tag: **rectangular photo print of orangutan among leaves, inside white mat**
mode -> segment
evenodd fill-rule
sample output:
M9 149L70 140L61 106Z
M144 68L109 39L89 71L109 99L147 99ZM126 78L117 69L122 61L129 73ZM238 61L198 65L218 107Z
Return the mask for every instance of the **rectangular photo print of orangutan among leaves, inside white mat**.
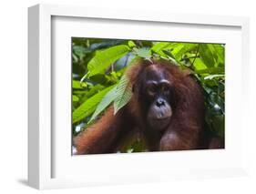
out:
M225 148L225 45L72 37L72 153Z

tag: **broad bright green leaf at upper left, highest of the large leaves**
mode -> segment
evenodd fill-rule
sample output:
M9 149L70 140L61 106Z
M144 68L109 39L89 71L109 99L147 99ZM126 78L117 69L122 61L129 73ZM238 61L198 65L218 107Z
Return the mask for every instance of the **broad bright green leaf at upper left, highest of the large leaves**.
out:
M97 51L96 55L87 64L87 77L97 74L104 74L112 63L129 52L129 47L125 45L112 46L103 51Z

